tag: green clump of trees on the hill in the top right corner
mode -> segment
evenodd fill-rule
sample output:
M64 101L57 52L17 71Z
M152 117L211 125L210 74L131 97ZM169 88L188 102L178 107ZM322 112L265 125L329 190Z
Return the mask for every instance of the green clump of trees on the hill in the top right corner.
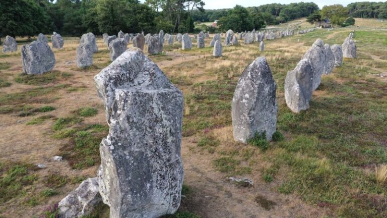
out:
M347 6L352 17L387 19L387 2L358 2Z

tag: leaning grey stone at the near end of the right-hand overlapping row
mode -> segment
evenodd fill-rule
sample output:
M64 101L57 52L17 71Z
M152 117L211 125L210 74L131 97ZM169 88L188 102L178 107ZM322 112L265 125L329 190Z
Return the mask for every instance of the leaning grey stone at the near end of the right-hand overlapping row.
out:
M285 101L290 110L299 113L309 108L313 92L313 72L308 59L302 59L285 79Z

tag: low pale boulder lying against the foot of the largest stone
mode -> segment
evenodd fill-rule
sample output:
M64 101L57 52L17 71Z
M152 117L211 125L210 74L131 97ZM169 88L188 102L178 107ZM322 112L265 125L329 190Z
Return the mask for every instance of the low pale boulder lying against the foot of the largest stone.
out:
M61 218L84 217L93 212L100 202L98 178L89 178L59 202L59 215Z

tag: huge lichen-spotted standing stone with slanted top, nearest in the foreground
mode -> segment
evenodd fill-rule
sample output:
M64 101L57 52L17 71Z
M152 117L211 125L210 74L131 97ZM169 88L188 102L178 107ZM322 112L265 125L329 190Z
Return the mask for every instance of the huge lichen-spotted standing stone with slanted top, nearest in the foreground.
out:
M110 126L98 172L110 217L174 213L183 183L182 92L138 48L126 50L94 80Z

